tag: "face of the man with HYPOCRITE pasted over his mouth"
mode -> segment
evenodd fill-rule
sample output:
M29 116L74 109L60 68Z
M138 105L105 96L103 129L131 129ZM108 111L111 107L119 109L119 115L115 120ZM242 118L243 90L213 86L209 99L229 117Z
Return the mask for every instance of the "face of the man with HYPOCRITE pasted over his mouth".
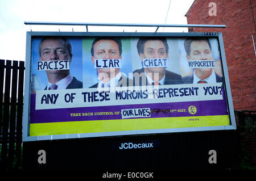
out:
M188 60L213 60L212 50L207 41L192 41ZM200 71L209 71L211 68L199 68Z

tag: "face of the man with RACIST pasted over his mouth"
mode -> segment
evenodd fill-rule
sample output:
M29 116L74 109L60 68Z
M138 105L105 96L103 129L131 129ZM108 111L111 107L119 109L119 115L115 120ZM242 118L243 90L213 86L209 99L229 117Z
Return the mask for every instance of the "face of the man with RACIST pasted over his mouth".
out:
M72 54L69 55L64 40L46 39L41 45L40 61L69 60L71 62ZM59 73L64 70L47 70L48 73Z

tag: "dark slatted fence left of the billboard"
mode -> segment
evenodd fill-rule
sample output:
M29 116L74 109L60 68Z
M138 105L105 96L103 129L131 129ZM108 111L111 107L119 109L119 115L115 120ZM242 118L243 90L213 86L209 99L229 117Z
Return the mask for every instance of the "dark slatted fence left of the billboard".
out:
M0 167L22 164L24 61L0 60Z

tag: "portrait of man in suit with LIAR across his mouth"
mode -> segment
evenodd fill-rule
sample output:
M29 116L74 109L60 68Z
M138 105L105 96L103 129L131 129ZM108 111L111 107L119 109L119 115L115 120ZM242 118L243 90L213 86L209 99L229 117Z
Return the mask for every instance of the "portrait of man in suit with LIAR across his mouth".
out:
M91 53L93 65L98 60L118 60L118 65L121 66L122 62L119 60L122 59L122 41L117 37L97 37L92 43ZM103 67L97 68L98 83L89 88L133 86L133 80L122 74L119 67Z

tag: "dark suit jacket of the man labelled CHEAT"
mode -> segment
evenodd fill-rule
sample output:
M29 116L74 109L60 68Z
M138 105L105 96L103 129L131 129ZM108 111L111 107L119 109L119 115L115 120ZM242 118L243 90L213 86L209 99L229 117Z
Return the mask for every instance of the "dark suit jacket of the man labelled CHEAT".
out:
M144 74L144 68L134 70L133 75L135 73L138 73L140 75L139 78L139 86L146 86L149 85L147 81L147 77ZM142 79L146 80L146 85L142 81ZM166 78L164 79L164 85L174 85L174 84L181 84L181 75L173 73L172 71L166 70ZM134 76L134 84L135 86L138 86L138 79L136 79L136 75Z

